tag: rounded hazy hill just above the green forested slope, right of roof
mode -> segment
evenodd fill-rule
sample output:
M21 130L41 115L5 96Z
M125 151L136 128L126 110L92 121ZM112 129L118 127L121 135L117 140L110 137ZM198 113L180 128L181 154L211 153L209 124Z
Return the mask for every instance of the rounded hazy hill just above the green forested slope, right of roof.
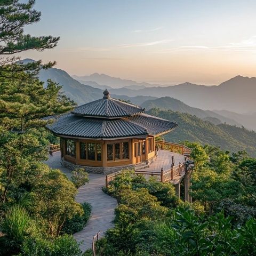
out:
M188 106L187 104L183 103L180 100L171 98L171 97L162 97L157 98L155 100L147 100L142 103L141 107L146 108L147 110L151 108L161 108L163 110L172 110L172 111L179 111L180 113L188 113L190 115L197 116L201 119L207 118L206 120L212 122L214 124L218 123L218 120L221 123L228 123L231 125L241 126L240 123L234 121L231 118L224 117L214 111L210 110L202 110L199 108L193 108ZM215 119L211 119L211 118ZM218 119L218 120L217 120Z

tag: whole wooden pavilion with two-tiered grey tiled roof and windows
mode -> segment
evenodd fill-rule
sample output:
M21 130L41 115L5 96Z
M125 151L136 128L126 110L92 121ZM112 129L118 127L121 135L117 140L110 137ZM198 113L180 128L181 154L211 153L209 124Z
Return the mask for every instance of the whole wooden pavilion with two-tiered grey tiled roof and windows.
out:
M63 165L108 174L154 161L155 137L177 126L144 112L105 90L102 99L54 117L47 128L60 137Z

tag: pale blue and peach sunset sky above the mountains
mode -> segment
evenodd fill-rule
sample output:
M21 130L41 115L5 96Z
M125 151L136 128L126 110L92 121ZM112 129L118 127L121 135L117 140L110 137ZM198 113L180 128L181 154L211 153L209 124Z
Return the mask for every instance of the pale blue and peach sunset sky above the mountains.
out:
M57 61L70 75L219 84L256 76L255 0L36 0L35 36L58 46L22 58Z

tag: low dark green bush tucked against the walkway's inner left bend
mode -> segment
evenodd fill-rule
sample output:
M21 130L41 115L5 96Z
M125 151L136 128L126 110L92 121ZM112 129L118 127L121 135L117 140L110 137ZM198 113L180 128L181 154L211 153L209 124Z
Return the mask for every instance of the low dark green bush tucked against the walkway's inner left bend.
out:
M87 202L84 202L81 205L84 213L82 215L76 214L72 219L67 220L61 230L61 234L66 233L71 235L81 231L86 226L91 215L92 206Z

